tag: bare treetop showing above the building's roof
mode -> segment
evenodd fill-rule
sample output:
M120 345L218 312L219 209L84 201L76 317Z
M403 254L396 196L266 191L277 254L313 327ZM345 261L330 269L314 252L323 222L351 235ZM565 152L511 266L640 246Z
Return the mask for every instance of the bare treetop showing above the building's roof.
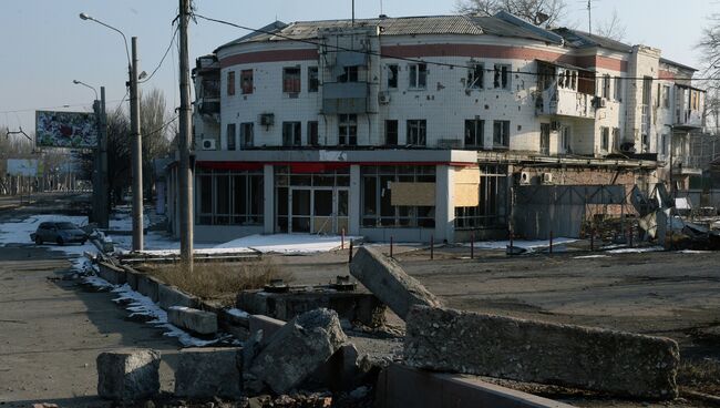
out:
M457 0L455 11L493 16L507 11L535 26L552 27L565 17L565 0Z

